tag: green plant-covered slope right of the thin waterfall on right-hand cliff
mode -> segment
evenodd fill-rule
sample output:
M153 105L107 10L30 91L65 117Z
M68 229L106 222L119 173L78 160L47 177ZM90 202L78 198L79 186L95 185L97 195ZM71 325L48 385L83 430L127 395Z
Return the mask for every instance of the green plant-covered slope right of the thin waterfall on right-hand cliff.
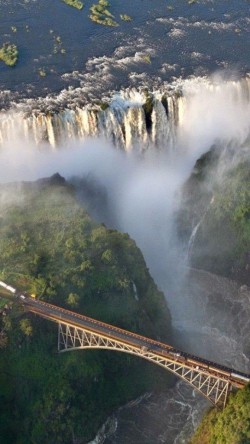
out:
M195 266L234 278L245 268L250 244L249 168L249 162L240 163L213 186L213 202L194 246Z

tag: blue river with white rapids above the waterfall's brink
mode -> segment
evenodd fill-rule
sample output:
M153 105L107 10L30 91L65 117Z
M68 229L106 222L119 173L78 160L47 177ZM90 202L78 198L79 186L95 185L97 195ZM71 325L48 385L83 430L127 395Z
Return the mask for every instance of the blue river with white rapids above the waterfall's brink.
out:
M19 50L16 67L0 65L2 106L72 87L89 103L126 87L249 70L248 0L112 0L115 28L89 19L93 3L78 11L62 0L1 0L0 43Z

